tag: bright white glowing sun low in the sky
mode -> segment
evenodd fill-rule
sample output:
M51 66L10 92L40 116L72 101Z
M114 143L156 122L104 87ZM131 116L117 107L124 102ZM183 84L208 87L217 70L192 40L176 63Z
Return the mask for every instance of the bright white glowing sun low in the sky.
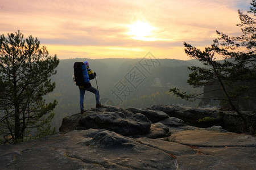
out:
M132 38L135 40L143 40L143 41L153 41L154 38L152 36L152 31L155 29L150 24L146 22L137 21L133 24L128 25L129 32L128 35L133 36Z

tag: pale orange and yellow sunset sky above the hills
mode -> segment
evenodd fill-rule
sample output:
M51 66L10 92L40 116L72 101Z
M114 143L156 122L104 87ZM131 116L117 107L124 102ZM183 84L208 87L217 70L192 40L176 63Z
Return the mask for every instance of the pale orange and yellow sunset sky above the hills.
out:
M190 59L183 42L202 48L216 30L241 35L238 10L251 0L0 0L0 34L38 37L65 58Z

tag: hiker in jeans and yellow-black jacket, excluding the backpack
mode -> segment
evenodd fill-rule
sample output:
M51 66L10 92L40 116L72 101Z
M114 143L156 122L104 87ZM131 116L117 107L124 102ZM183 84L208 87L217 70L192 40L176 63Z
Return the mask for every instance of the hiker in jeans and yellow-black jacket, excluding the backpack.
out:
M93 70L89 68L89 62L85 61L84 65L86 66L86 70L87 70L87 75L84 75L84 82L81 84L79 84L79 91L80 91L80 111L81 113L84 113L84 94L85 91L89 91L95 94L95 98L96 98L96 108L101 108L103 107L103 105L101 105L100 103L100 95L99 92L96 88L92 87L92 84L90 84L91 79L94 79L96 76L96 73L93 73ZM74 66L75 68L75 66ZM85 70L85 71L86 71ZM77 84L77 83L76 83Z

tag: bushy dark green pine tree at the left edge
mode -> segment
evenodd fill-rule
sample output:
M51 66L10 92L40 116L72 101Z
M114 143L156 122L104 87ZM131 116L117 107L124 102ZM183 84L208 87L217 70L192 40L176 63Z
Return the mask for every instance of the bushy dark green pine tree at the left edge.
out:
M40 41L20 31L0 37L0 135L2 143L23 141L30 129L49 129L57 101L46 104L52 92L59 59L51 57ZM46 128L43 128L46 127Z

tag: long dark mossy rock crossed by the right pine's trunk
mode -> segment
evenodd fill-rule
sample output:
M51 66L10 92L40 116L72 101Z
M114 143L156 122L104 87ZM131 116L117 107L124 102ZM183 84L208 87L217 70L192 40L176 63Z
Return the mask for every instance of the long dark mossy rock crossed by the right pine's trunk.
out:
M180 118L187 125L200 128L210 128L211 126L221 126L227 131L236 133L243 132L243 122L235 112L218 111L217 108L192 108L185 105L153 105L148 108L155 111L163 111L170 117ZM241 112L247 120L250 130L255 133L256 114L254 112Z

